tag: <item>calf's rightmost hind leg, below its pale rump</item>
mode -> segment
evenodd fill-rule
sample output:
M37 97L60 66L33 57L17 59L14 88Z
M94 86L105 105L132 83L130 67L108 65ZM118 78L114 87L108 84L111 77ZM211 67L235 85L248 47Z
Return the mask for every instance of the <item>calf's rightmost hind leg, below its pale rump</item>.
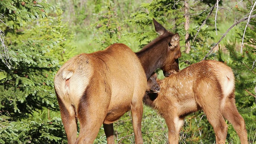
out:
M234 98L228 98L224 104L222 114L233 125L240 138L241 144L248 144L245 122L242 116L238 113Z

